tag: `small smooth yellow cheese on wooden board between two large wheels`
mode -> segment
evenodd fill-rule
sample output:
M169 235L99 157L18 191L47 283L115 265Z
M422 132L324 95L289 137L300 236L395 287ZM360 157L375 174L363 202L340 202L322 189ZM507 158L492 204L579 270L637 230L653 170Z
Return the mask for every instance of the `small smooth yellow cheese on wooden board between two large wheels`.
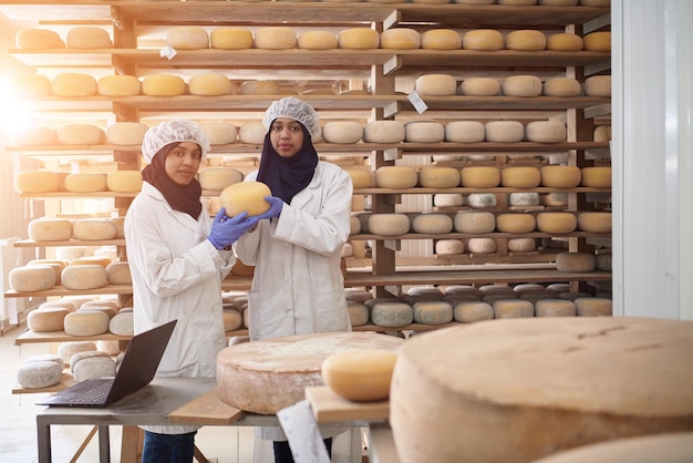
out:
M385 400L397 353L382 349L350 349L328 356L320 367L324 383L354 402Z

